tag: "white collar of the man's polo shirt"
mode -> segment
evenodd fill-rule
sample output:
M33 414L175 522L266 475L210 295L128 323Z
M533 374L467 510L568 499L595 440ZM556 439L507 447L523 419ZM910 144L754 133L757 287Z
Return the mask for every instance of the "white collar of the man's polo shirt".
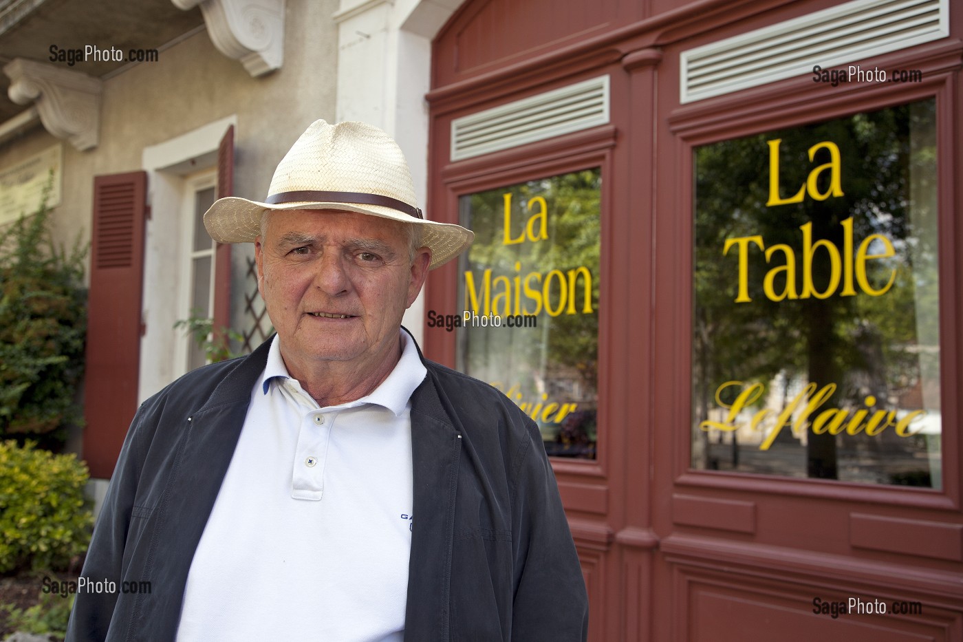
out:
M362 404L377 404L387 408L395 416L404 412L408 401L411 399L411 394L425 380L428 370L418 355L418 347L415 345L414 338L403 330L400 330L399 334L402 340L402 357L387 378L371 394L341 404L341 406L349 408ZM272 384L281 385L286 379L292 379L292 377L281 358L280 339L275 334L259 386L264 394L268 394L273 388Z

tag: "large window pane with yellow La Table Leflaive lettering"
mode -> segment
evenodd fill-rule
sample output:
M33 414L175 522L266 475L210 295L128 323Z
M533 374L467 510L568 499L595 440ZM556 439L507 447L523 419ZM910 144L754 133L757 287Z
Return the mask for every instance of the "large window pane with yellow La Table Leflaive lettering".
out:
M941 488L935 112L695 150L694 468Z

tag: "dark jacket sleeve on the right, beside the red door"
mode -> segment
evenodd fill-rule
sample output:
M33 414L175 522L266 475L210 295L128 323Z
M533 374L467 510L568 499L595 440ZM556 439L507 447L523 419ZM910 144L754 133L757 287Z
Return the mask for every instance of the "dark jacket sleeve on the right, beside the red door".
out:
M529 419L526 427L513 475L511 639L585 640L588 597L582 567L538 429Z

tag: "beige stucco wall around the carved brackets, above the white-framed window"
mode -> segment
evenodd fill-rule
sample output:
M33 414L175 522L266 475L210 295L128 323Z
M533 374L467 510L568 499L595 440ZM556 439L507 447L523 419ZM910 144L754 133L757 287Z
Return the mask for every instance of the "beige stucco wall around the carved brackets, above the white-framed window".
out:
M142 169L143 148L236 115L235 193L262 199L274 167L313 120L333 120L337 73L336 0L288 0L284 64L252 78L221 54L206 31L104 81L100 142L78 151L63 142L63 202L55 237L90 240L93 177ZM83 63L73 69L83 71ZM37 126L0 145L0 168L58 142ZM153 212L154 217L165 212Z

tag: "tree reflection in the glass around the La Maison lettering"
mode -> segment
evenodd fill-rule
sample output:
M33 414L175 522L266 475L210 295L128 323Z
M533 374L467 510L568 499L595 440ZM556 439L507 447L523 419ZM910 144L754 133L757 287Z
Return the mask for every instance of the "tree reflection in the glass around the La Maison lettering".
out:
M511 229L508 237L522 233L533 212L528 202L535 196L548 204L548 239L505 244L505 194L511 195ZM549 454L595 457L598 386L598 304L601 172L598 168L528 181L510 187L472 194L460 199L461 224L475 231L475 242L459 263L459 305L466 305L464 273L475 275L476 290L485 269L491 280L530 273L547 275L559 270L585 267L591 275L590 305L585 313L583 278L578 280L577 313L563 311L550 316L544 306L535 328L471 328L458 333L459 368L488 382L502 384L503 391L518 386L522 399L539 402L565 401L578 404L578 411L558 424L539 420ZM520 269L516 269L516 265ZM493 297L496 291L492 287ZM499 288L498 291L501 291ZM569 296L574 296L569 292ZM481 301L480 306L483 306ZM534 312L524 294L521 312ZM514 298L511 301L514 311ZM460 310L458 310L460 311ZM493 310L494 311L494 310ZM504 313L503 309L497 310ZM531 407L530 407L531 408ZM571 417L571 418L569 418Z

